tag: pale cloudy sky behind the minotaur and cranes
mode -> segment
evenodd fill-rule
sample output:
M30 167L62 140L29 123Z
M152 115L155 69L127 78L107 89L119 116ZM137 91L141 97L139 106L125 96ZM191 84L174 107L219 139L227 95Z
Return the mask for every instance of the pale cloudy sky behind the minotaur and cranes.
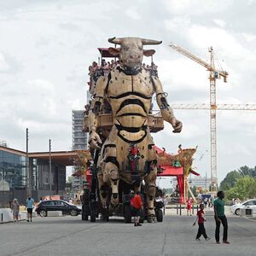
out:
M209 103L205 67L171 49L171 42L230 75L217 80L217 103L255 104L256 1L87 1L0 0L0 140L26 151L72 149L72 110L84 109L88 67L108 38L138 37L163 41L154 62L170 104ZM144 57L144 62L150 58ZM156 107L156 106L155 106ZM157 108L155 108L157 109ZM174 110L183 122L154 134L154 143L172 154L177 146L195 148L194 170L211 175L210 113ZM241 166L256 166L255 111L218 111L218 182ZM161 181L168 187L168 180Z

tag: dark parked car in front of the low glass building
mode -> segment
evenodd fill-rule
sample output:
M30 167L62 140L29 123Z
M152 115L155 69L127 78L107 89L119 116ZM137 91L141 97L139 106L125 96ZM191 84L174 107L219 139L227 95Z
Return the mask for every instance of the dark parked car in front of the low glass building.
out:
M46 217L49 211L61 211L63 215L77 216L81 213L81 209L75 205L62 200L41 201L35 211L41 216Z

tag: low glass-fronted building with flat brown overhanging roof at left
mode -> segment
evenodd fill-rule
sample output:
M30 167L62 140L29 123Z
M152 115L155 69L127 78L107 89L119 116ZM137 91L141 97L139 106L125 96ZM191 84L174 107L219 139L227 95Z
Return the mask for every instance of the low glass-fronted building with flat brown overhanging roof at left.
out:
M0 207L17 198L25 204L27 191L39 201L42 196L63 195L66 166L73 166L75 151L29 153L0 146ZM51 170L51 172L49 171Z

